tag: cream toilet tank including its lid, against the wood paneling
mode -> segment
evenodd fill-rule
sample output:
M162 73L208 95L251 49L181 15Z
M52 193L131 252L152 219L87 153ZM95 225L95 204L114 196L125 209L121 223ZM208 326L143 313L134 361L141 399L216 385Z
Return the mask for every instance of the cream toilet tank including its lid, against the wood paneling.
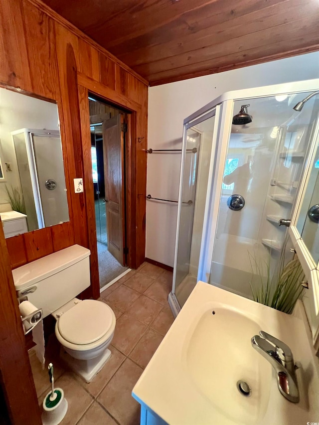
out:
M48 316L90 286L89 258L88 249L73 245L12 270L17 297Z

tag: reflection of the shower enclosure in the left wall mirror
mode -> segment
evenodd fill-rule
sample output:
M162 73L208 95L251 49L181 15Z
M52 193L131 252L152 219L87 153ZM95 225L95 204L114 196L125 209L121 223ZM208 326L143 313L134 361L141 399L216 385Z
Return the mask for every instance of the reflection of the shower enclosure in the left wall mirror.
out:
M28 229L69 219L60 133L21 129L11 133Z

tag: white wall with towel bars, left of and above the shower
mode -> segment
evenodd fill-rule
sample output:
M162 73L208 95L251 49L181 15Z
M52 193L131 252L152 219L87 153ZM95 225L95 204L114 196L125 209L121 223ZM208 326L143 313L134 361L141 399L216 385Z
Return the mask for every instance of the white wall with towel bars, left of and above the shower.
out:
M206 75L149 90L149 148L180 148L183 120L230 90L319 77L319 52ZM147 192L178 198L180 155L148 154ZM177 204L147 201L146 257L173 266Z

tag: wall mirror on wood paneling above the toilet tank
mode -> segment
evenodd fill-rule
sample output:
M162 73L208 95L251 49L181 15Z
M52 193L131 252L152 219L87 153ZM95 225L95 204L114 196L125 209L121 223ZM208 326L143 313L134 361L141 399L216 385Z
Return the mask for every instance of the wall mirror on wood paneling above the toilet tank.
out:
M4 88L0 216L6 238L69 221L56 102Z

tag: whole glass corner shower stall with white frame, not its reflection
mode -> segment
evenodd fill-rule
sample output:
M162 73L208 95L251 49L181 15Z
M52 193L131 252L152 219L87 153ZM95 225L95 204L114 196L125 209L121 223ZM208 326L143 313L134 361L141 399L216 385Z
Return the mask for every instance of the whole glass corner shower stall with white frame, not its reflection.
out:
M174 314L199 280L252 298L254 265L266 278L289 252L287 228L318 138L319 96L310 96L318 87L309 80L228 92L184 120Z

